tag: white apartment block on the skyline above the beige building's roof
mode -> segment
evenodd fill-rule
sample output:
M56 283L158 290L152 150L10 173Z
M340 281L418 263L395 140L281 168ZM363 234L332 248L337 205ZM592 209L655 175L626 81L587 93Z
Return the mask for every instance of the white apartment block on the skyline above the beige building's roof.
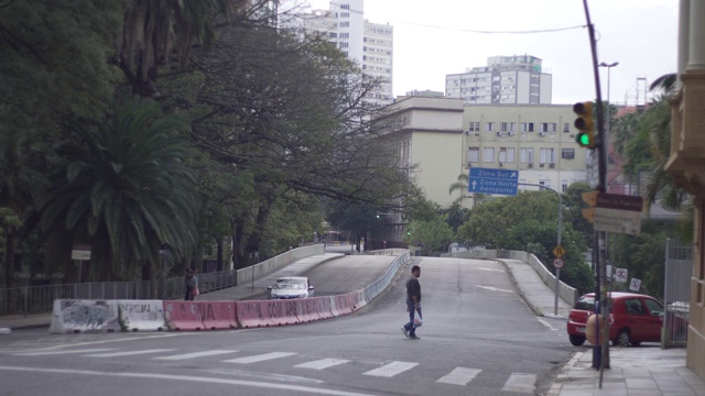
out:
M445 76L445 95L466 105L550 105L552 76L531 55L492 56L487 66Z

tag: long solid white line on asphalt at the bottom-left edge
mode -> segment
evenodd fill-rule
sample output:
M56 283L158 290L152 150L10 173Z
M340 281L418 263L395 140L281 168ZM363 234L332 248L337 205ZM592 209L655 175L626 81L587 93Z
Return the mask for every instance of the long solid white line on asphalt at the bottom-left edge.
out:
M182 381L203 384L224 384L224 385L240 385L251 386L259 388L276 389L284 392L301 392L305 395L329 395L329 396L377 396L375 394L362 394L357 392L346 392L337 389L316 388L312 386L302 386L293 384L274 384L272 382L256 382L243 380L228 380L228 378L215 378L204 376L189 376L189 375L169 375L169 374L148 374L148 373L113 373L113 372L100 372L89 370L62 370L62 369L36 369L36 367L18 367L18 366L2 366L0 371L13 371L13 372L29 372L29 373L54 373L54 374L70 374L70 375L93 375L98 377L123 377L123 378L149 378L149 380L166 380L166 381Z

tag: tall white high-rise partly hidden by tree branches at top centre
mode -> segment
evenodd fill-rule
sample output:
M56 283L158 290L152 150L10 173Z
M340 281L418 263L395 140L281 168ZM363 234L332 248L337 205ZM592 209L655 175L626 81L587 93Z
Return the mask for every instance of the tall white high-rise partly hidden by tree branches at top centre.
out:
M365 19L365 0L334 0L328 10L313 10L294 22L336 43L362 73L379 78L380 85L367 96L378 105L394 101L392 94L394 28Z

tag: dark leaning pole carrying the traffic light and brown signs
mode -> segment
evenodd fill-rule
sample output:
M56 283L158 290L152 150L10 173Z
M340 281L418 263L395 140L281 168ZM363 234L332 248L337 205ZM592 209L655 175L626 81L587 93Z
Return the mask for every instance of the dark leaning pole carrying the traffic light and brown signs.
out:
M593 74L595 76L595 92L596 92L596 106L597 106L597 172L598 172L598 185L597 189L600 193L607 193L607 142L605 138L605 118L603 117L603 96L599 84L599 69L597 62L597 42L595 41L595 26L590 20L589 9L587 7L587 0L583 0L585 8L585 19L587 21L587 31L590 40L590 52L593 54ZM593 248L595 260L595 298L600 297L600 304L595 305L595 314L599 315L601 307L607 307L607 293L603 293L601 282L605 279L605 264L607 262L606 251L606 235L604 231L595 231L595 244ZM605 312L605 319L607 319L609 312ZM599 322L599 321L598 321ZM603 387L603 370L609 369L609 340L599 340L599 329L597 331L598 342L593 350L593 367L600 370L599 387ZM603 341L603 348L600 351L600 341Z

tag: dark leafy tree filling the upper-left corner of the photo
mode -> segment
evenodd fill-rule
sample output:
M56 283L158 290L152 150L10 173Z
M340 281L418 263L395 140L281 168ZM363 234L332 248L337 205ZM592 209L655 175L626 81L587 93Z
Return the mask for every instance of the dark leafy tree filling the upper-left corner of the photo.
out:
M106 63L126 1L0 3L0 207L6 286L15 245L33 230L61 122L97 119L109 108L119 73ZM32 246L40 250L41 246Z

